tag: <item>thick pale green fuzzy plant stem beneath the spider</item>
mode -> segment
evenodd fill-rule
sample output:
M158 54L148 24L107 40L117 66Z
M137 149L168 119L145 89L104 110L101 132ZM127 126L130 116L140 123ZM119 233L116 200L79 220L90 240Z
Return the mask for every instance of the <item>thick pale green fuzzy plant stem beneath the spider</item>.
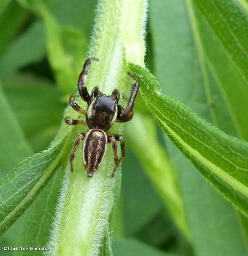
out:
M136 63L142 64L144 59L143 30L145 22L146 1L99 1L94 34L91 40L89 57L99 58L99 62L92 63L87 77L89 92L97 85L105 94L111 94L118 89L122 94L129 95L132 88L132 80L127 76L127 67L124 60L124 38L128 37L128 30L122 31L123 20L130 18L129 8L135 7L136 15L131 17L130 26L140 38L140 44L135 48ZM139 8L141 7L143 8ZM125 7L125 8L123 8ZM131 30L131 27L130 29ZM139 35L139 36L138 36ZM130 42L130 39L126 40ZM139 49L139 45L143 45ZM129 49L129 54L131 54ZM122 103L122 102L121 102ZM79 104L86 108L82 101ZM76 111L68 108L66 116L78 118ZM62 124L61 130L66 129ZM76 129L75 136L85 131L86 128ZM122 126L115 124L111 132L120 134ZM61 134L61 132L59 132ZM60 137L58 135L58 137ZM70 152L69 152L70 153ZM105 159L100 168L89 179L83 168L82 156L78 152L74 159L74 173L70 172L70 164L65 157L62 167L64 180L59 204L56 210L56 218L49 247L52 251L49 255L111 255L109 248L108 219L111 212L114 197L116 177L110 175L114 168L112 148L108 147ZM120 152L119 152L120 154ZM121 175L118 168L116 176ZM118 177L117 177L118 178ZM119 189L119 188L118 188ZM107 228L106 228L107 227ZM105 244L104 244L105 243Z

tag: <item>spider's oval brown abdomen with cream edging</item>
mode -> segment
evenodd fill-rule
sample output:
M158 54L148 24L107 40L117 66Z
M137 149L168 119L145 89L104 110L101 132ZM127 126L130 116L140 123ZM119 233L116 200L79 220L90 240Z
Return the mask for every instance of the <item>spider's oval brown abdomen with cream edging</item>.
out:
M107 135L100 129L91 129L85 135L83 160L88 177L100 166L107 149Z

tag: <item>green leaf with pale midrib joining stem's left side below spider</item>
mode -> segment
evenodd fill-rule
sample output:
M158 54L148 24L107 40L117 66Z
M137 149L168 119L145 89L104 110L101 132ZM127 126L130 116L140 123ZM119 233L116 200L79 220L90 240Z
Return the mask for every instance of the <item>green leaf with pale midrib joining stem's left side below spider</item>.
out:
M68 147L68 139L70 141L67 135L49 149L24 160L0 181L1 236L34 201L56 171Z

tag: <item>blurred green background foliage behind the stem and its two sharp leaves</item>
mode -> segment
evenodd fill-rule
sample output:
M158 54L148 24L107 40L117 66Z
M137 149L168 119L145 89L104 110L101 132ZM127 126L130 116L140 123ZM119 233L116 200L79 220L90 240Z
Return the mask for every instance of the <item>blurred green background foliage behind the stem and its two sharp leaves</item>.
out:
M240 86L245 82L196 9L197 2L149 1L147 68L161 83L162 93L180 100L223 131L247 140L247 117L242 111L231 111L226 100L228 93L234 93L229 90L234 82ZM56 135L87 57L97 4L96 0L50 0L38 10L27 3L0 3L1 177L25 157L48 147ZM239 100L236 95L231 104ZM132 124L124 131L127 156L115 213L113 254L246 255L247 220L154 125L139 98ZM142 143L136 143L137 138ZM167 188L160 184L160 172L167 169L175 172L178 180L175 186L182 215L185 213L186 235L173 221L173 203L170 206L163 196ZM1 255L13 255L2 251L4 246L46 245L59 181L57 172L27 213L9 229L1 241ZM46 198L45 208L42 198Z

